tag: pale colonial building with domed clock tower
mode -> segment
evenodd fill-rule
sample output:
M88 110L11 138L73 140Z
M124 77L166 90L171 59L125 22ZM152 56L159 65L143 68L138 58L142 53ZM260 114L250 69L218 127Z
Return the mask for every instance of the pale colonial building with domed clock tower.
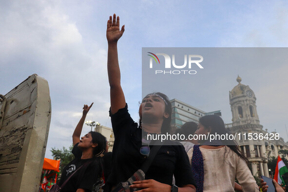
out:
M240 139L237 137L237 142L250 161L252 174L269 176L269 158L277 157L281 149L288 150L288 144L283 138L277 137L279 134L276 132L268 133L267 129L263 130L254 92L248 85L241 84L242 79L239 76L236 80L238 85L229 92L232 123L226 124L226 128L232 134L241 135Z

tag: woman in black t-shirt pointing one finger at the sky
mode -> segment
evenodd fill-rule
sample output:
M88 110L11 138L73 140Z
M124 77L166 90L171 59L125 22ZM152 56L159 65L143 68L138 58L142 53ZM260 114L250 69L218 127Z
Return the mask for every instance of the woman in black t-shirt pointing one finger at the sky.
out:
M99 187L93 185L97 185L98 178L102 176L100 158L106 148L107 140L102 134L93 131L80 139L86 115L92 105L93 103L89 107L84 105L83 115L72 135L74 145L72 154L75 159L63 169L59 183L61 192L92 192L93 188ZM69 180L65 183L67 179Z

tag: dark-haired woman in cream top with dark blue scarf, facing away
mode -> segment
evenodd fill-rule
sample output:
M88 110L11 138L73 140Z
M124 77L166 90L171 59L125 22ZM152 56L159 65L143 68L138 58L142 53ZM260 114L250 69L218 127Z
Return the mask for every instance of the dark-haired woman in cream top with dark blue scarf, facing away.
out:
M225 124L218 115L206 115L199 119L195 134L226 134ZM248 159L234 141L198 140L189 150L197 192L234 192L234 181L238 179L243 192L258 192L258 186L250 169Z

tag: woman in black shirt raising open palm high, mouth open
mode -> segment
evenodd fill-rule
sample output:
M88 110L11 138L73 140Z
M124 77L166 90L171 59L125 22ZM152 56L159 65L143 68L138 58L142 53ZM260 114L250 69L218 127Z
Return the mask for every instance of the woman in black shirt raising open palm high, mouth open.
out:
M117 41L123 33L124 25L120 30L119 17L116 19L115 14L113 18L110 16L106 34L107 66L111 98L110 116L115 143L112 153L113 169L108 184L114 187L119 182L125 182L149 159L150 148L153 151L155 145L148 144L143 148L142 139L147 141L147 134L170 133L172 114L168 97L162 93L153 93L145 96L140 105L140 126L131 118L120 84L117 56ZM145 174L145 180L134 182L130 186L131 189L142 189L139 192L195 192L188 156L181 144L174 144L175 141L165 141ZM172 186L173 174L176 184L174 186Z

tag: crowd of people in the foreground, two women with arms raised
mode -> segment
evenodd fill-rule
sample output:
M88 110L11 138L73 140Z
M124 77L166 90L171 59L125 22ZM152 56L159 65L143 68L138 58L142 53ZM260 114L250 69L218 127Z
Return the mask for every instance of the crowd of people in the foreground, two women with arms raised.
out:
M250 172L248 159L236 143L149 139L148 135L171 134L172 105L165 94L145 96L139 107L139 122L131 118L120 83L117 56L117 42L124 30L124 25L120 29L119 17L110 16L106 36L109 115L115 135L112 154L107 153L107 139L102 134L91 131L80 137L93 103L84 105L72 135L75 159L62 172L61 192L258 192L260 187ZM188 122L175 133L216 132L227 133L222 118L206 115L198 124ZM284 191L274 184L277 192ZM269 189L263 180L261 185L262 191Z

